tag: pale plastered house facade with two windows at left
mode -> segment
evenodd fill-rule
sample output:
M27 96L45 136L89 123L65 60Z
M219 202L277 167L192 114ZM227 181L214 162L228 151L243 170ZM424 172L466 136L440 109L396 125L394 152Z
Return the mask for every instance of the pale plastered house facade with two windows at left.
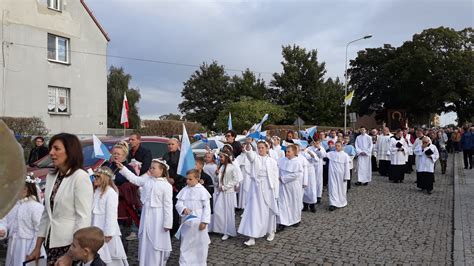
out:
M109 37L84 0L0 0L0 116L107 133Z

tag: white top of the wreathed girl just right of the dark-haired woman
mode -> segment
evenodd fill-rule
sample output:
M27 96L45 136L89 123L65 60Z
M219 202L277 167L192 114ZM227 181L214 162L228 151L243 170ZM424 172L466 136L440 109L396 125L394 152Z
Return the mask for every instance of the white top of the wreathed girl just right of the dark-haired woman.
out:
M120 227L117 221L118 194L108 187L101 196L102 191L96 189L92 204L92 225L104 231L105 236L120 236Z

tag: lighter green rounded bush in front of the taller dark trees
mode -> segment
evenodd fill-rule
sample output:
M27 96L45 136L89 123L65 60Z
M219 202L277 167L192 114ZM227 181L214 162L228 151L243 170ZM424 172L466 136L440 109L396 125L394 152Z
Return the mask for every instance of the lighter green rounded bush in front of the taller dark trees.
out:
M265 114L268 114L265 124L272 124L286 117L286 111L281 106L265 100L242 98L241 101L229 103L219 113L217 119L219 130L227 130L229 112L232 114L232 127L238 133L245 129L248 130L253 124L260 122Z

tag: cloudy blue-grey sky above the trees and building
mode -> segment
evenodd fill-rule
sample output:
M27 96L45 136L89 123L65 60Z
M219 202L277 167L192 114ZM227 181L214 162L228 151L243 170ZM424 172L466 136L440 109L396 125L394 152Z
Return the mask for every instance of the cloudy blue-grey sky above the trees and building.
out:
M218 61L229 75L249 68L267 82L281 72L281 46L317 49L327 77L344 74L345 46L400 46L414 33L439 26L472 27L472 0L87 0L111 38L109 56L198 66ZM109 57L140 88L142 118L177 113L183 82L196 67ZM443 116L442 123L453 120Z

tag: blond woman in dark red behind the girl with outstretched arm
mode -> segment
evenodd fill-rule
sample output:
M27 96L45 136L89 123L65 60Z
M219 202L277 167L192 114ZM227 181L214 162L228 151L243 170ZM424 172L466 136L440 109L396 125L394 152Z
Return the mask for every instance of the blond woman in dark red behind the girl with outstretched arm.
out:
M118 217L126 217L132 220L133 225L129 236L125 237L126 240L137 239L137 227L140 224L140 218L137 214L137 209L141 208L140 199L138 197L138 187L130 183L122 174L119 173L117 164L115 162L121 162L122 165L128 168L130 171L135 172L133 167L128 164L128 144L125 141L121 141L112 148L112 157L110 162L107 162L104 166L109 167L114 174L114 183L118 188L119 192L119 208ZM138 174L138 173L137 173Z

